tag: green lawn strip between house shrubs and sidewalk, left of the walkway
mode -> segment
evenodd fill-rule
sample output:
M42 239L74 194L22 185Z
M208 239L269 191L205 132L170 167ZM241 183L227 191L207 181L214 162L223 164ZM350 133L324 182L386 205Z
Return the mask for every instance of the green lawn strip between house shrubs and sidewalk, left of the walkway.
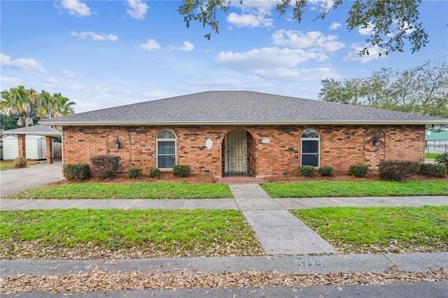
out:
M193 183L70 183L36 187L10 199L216 199L231 198L228 185Z

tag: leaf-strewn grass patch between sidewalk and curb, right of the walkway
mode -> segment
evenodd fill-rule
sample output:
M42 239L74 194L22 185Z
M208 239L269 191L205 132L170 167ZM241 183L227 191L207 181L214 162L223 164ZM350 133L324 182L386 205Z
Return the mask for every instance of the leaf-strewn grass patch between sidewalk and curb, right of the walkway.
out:
M448 206L312 208L292 213L344 253L448 249Z

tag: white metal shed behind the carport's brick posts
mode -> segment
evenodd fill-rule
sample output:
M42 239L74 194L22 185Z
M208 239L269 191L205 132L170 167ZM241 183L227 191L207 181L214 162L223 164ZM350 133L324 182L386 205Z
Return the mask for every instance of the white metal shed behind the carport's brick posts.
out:
M25 138L27 159L46 159L47 141L45 136L29 136ZM3 138L3 159L15 159L19 155L19 143L17 136Z

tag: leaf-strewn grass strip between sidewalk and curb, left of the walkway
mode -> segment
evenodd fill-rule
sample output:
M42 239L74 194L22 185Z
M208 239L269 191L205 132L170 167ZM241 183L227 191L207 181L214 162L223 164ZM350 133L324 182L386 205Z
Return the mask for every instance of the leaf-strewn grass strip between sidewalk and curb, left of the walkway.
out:
M0 212L0 259L262 253L240 211L64 209Z

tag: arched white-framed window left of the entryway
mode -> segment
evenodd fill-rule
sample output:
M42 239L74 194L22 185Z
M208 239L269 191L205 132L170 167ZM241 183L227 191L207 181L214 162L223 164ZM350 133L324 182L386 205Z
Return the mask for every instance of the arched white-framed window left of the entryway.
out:
M176 134L165 129L157 135L157 167L172 169L176 164Z

